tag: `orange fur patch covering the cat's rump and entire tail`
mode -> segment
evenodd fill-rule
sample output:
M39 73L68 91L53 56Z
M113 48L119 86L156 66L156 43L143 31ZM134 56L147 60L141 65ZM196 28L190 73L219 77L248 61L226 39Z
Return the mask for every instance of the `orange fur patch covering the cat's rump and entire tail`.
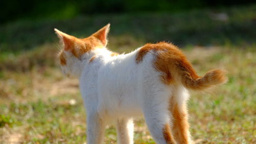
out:
M147 53L154 55L153 64L158 71L162 72L160 79L166 85L181 81L187 88L202 90L226 82L223 70L212 70L203 78L199 77L185 55L171 43L145 44L136 55L136 63L140 63Z

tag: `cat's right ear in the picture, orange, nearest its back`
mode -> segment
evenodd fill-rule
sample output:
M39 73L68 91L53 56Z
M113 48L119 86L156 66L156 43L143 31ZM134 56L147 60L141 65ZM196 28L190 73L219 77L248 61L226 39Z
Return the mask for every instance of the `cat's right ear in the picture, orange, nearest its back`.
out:
M96 38L98 38L102 42L102 44L106 46L106 44L108 44L107 36L109 31L110 31L110 23L105 27L101 28L100 30L98 30L96 33L92 34L92 36L95 36Z

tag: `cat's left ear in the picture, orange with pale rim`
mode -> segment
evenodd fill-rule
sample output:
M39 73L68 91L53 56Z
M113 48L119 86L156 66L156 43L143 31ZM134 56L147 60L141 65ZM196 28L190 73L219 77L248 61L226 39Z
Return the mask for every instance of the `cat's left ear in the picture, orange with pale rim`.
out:
M63 33L57 29L54 29L55 33L60 39L60 43L63 45L64 50L68 51L72 49L73 43L74 43L74 37L71 35L68 35L66 33Z

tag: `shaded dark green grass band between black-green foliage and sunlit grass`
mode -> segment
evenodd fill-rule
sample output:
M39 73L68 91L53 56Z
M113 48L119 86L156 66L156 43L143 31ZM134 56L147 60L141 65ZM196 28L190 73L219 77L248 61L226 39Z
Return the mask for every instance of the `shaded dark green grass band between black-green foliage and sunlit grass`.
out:
M87 37L109 22L109 47L112 49L127 45L125 43L133 43L135 48L145 42L157 41L170 41L179 46L244 46L256 39L256 29L252 29L256 26L256 5L253 4L175 13L98 14L62 20L19 20L0 26L0 52L15 53L40 44L57 43L54 28L77 37Z

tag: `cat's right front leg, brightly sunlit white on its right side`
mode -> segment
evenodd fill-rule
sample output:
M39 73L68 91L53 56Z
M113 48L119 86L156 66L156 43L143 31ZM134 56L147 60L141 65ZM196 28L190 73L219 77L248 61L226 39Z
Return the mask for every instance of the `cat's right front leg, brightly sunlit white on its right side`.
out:
M122 118L116 123L117 143L132 144L133 143L133 119Z

